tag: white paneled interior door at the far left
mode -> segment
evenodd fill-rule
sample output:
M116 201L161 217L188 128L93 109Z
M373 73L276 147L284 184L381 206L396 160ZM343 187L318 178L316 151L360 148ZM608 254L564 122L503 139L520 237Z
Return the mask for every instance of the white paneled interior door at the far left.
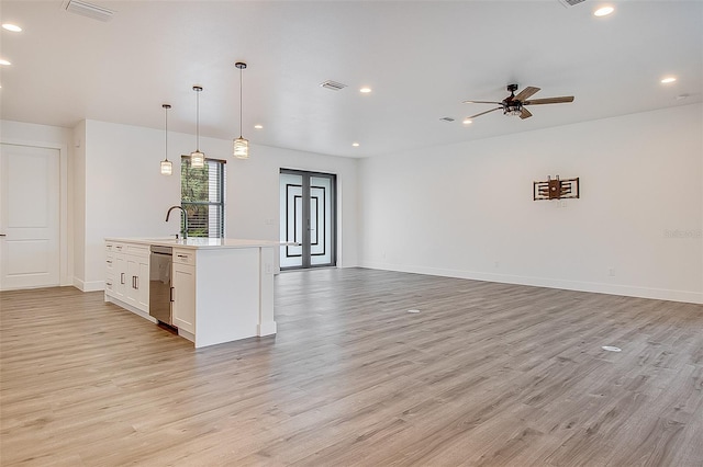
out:
M0 144L0 289L59 284L59 150Z

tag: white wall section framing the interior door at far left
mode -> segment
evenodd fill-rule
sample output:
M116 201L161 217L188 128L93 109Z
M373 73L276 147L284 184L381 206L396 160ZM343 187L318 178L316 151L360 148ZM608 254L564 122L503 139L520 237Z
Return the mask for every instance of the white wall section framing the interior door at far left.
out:
M13 145L58 149L59 151L59 283L72 284L74 236L72 132L70 128L0 121L0 141Z

